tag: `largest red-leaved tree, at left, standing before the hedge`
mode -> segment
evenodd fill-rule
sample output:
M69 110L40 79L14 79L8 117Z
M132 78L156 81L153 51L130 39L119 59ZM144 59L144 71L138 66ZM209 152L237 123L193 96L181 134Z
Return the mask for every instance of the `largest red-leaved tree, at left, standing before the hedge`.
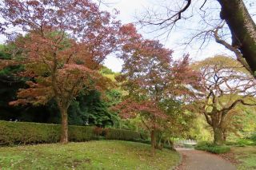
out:
M61 142L67 143L70 102L78 93L108 85L98 69L116 48L119 22L88 0L5 0L0 15L1 32L22 49L23 74L34 77L10 105L41 105L54 98L62 114Z

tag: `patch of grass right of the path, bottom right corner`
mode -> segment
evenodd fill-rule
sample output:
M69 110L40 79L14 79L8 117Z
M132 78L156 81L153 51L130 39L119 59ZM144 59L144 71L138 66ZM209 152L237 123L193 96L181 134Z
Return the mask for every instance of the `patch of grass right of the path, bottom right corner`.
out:
M238 169L256 169L256 147L233 147L231 152L241 162L238 164Z

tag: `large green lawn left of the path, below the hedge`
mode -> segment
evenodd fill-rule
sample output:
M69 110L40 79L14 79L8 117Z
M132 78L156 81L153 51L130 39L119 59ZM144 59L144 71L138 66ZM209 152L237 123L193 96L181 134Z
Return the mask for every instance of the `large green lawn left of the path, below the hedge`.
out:
M150 145L120 140L0 148L0 169L169 169L177 152L150 156Z

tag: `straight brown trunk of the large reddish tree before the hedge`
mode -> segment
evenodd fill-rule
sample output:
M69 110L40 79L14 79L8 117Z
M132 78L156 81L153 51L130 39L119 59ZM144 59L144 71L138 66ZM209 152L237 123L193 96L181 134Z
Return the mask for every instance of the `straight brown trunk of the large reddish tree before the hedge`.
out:
M61 136L61 143L67 144L68 143L68 122L67 122L67 109L62 108L60 109L62 114L62 136Z

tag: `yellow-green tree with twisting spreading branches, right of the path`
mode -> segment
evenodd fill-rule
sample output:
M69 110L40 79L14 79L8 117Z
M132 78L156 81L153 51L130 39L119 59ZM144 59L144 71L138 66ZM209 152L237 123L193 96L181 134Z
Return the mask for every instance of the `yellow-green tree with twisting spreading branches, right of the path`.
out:
M202 74L197 105L214 131L214 144L223 144L228 124L238 105L256 105L256 81L242 65L229 57L211 57L194 65ZM230 127L230 126L229 126Z

